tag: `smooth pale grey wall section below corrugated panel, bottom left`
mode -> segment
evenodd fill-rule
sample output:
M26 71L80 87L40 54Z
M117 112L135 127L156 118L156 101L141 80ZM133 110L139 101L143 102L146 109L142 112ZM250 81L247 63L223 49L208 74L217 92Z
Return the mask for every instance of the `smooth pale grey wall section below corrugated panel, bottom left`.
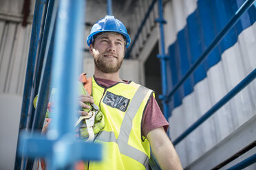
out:
M22 97L0 94L0 169L14 169Z

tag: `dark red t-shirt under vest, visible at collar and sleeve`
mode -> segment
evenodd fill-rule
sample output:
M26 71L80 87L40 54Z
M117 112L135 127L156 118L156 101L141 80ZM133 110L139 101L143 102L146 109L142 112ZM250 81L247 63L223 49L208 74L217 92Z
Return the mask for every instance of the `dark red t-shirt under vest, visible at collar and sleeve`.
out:
M96 80L97 84L105 88L108 88L109 86L113 86L114 84L118 83L96 77L94 77L94 79ZM127 84L129 83L128 81L123 81ZM164 127L165 132L167 132L168 126L169 123L164 118L164 115L162 114L162 111L160 110L155 97L151 97L149 99L149 104L145 109L145 113L142 119L142 135L147 136L147 134L151 130L156 129L157 127Z

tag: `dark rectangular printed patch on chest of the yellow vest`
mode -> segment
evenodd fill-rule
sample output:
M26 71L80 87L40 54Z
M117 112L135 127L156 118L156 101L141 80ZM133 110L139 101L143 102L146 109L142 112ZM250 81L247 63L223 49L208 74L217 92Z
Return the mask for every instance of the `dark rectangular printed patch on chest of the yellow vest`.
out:
M125 112L127 110L129 101L130 99L115 95L109 91L107 91L107 94L103 99L104 104L107 104L107 106L110 106L111 108L118 108L122 112Z

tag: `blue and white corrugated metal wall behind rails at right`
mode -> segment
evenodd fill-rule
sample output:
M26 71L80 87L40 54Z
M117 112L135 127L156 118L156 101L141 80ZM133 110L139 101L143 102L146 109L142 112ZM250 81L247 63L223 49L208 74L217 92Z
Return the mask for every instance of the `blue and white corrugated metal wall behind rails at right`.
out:
M242 3L173 0L166 4L170 84L174 86L189 70ZM253 6L175 94L169 119L173 140L256 68L255 16ZM255 114L254 81L176 146L182 165L191 164Z

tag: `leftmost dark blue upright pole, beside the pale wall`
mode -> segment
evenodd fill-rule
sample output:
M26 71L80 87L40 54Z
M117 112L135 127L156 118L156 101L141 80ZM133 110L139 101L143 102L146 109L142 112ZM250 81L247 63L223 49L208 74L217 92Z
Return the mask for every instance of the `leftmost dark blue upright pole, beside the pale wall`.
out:
M25 129L28 121L28 112L29 106L32 102L31 100L31 92L32 92L32 80L34 77L34 64L36 62L36 53L39 42L39 34L41 28L41 20L43 14L43 6L45 1L36 0L36 4L34 7L34 17L32 23L32 33L30 38L30 49L28 53L28 63L27 63L27 71L25 75L25 86L23 90L23 99L22 99L22 107L21 107L21 119L19 123L19 134L21 130ZM17 141L17 151L15 158L14 169L21 168L21 158L18 156L18 147L19 147L19 136Z

